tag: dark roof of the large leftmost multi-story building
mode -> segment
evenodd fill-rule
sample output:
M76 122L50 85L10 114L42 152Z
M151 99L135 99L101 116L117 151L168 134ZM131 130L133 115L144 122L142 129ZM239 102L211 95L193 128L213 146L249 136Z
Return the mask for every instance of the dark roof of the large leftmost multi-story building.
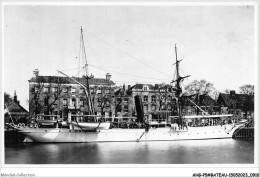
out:
M78 82L82 84L87 83L86 77L74 77ZM38 76L32 77L29 82L37 83L61 83L61 84L76 84L69 77L60 77L60 76ZM89 79L89 85L115 85L112 80L105 78L91 78Z

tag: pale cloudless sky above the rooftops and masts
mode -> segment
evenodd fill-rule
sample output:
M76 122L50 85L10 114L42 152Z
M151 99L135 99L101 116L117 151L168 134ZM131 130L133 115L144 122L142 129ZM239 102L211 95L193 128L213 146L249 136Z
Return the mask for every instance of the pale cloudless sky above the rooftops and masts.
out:
M33 70L80 75L80 28L88 71L117 85L169 83L180 74L223 92L255 84L254 7L10 5L3 12L3 89L28 109Z

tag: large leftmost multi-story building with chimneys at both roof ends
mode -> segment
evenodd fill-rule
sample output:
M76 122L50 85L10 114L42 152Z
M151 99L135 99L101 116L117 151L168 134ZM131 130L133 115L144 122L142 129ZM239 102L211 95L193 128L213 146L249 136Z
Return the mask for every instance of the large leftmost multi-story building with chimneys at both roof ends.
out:
M56 115L63 119L72 115L89 114L88 102L84 87L68 77L40 76L39 71L34 71L35 76L29 80L29 111L31 115ZM113 95L114 82L111 75L106 78L90 79L75 77L75 80L84 85L89 85L90 98L93 101L96 115L112 116L114 111Z

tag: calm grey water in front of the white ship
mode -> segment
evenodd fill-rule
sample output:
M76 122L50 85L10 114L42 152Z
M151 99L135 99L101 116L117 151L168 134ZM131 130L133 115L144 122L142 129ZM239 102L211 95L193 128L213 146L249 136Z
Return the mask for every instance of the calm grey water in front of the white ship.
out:
M253 164L254 142L235 139L5 146L5 164Z

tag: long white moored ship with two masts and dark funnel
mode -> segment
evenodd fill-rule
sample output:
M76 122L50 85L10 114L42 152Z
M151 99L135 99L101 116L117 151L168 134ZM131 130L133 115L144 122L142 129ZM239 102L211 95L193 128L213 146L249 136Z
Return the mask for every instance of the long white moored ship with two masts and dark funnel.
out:
M82 29L81 29L82 33ZM83 40L83 36L82 36ZM85 51L85 50L84 50ZM180 111L180 100L181 100L181 82L183 79L189 77L181 77L179 75L179 62L177 59L176 52L176 79L173 81L175 86L173 90L176 96L176 115L168 117L163 122L151 122L145 120L141 110L140 103L136 103L136 111L138 115L138 121L133 119L133 125L135 127L113 127L113 122L111 120L106 120L104 116L95 116L93 110L93 103L89 92L88 83L82 84L73 77L58 71L59 73L65 75L66 77L73 80L75 83L80 85L85 90L86 99L88 101L89 113L86 118L91 118L91 121L78 121L79 117L83 115L74 115L75 118L72 120L71 115L67 121L62 121L59 119L54 120L35 120L36 123L44 124L56 124L56 128L39 128L37 124L35 125L14 125L9 124L10 127L17 130L18 132L25 135L27 138L34 142L136 142L136 141L176 141L176 140L193 140L193 139L218 139L218 138L232 138L234 132L242 128L244 124L235 124L223 122L221 125L208 125L208 126L197 126L190 127L185 124L187 119L220 119L231 120L232 115L209 115L203 112L203 115L194 116L183 116ZM87 65L85 65L87 66ZM89 77L86 77L89 79ZM140 102L137 98L136 102ZM195 105L195 107L198 107ZM199 108L201 109L201 108ZM172 112L174 113L174 112ZM46 116L45 116L46 117ZM99 119L97 119L99 118ZM114 118L112 118L114 119ZM62 125L66 127L60 127ZM119 124L119 122L118 122ZM121 124L121 123L120 123ZM128 123L129 124L129 123Z

